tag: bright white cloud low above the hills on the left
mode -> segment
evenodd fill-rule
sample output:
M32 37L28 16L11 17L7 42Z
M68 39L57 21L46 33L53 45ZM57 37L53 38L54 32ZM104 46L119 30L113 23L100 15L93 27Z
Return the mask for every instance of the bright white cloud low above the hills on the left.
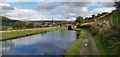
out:
M15 9L9 13L3 13L3 16L18 20L39 20L47 19L42 13L35 10Z

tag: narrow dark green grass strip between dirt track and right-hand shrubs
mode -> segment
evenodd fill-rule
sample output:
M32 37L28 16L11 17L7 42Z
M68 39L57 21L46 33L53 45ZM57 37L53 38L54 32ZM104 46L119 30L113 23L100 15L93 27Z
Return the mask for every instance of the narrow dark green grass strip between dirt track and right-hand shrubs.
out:
M100 42L99 38L97 36L94 36L93 39L94 39L96 46L100 52L100 55L107 55L107 53L106 53L102 43Z

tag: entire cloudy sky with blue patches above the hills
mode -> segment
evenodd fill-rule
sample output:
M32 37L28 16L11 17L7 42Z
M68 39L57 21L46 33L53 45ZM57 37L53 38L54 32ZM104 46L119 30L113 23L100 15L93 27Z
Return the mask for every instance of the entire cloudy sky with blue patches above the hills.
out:
M5 0L4 0L5 1ZM13 20L65 20L75 21L77 16L91 17L92 14L115 10L113 0L45 0L0 2L0 15ZM81 2L82 1L82 2Z

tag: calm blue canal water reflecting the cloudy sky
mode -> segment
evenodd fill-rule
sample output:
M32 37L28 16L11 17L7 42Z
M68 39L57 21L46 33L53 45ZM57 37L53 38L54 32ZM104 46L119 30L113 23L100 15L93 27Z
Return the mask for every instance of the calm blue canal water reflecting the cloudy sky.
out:
M76 31L56 30L2 42L3 55L63 55Z

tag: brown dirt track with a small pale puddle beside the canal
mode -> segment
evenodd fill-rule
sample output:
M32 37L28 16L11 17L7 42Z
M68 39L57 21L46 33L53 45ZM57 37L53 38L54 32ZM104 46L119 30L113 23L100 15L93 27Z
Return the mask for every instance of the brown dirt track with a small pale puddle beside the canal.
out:
M99 51L93 38L87 32L86 37L80 47L80 55L99 55Z

